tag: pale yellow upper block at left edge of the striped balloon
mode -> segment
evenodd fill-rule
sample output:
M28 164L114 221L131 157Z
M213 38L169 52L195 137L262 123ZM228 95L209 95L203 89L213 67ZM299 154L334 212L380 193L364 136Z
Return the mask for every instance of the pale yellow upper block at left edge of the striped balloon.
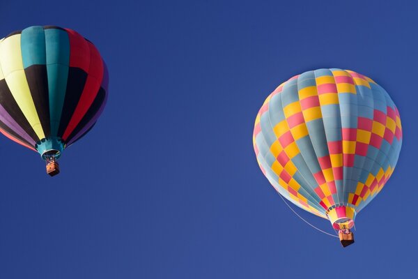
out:
M20 34L10 36L1 42L0 63L5 77L15 70L23 69Z

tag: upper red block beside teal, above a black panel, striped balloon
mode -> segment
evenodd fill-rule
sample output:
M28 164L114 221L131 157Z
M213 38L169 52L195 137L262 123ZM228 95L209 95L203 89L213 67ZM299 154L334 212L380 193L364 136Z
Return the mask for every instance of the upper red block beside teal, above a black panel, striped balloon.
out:
M90 48L88 42L79 33L65 29L70 38L70 67L82 68L88 73L90 65Z

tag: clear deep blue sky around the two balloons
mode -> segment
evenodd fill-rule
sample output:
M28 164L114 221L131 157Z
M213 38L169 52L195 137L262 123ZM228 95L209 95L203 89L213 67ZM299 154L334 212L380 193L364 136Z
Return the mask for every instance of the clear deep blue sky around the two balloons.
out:
M415 1L2 1L1 37L31 25L75 29L100 50L110 84L104 113L64 151L59 176L0 137L0 278L414 276L417 9ZM265 97L316 68L371 77L403 123L396 170L357 216L346 249L287 208L251 142Z

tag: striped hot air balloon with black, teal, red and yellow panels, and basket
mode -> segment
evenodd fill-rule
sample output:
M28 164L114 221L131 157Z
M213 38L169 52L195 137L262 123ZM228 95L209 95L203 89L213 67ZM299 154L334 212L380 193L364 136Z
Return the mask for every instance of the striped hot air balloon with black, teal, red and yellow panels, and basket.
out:
M71 29L34 26L0 40L0 132L59 173L63 150L94 126L107 100L106 64Z

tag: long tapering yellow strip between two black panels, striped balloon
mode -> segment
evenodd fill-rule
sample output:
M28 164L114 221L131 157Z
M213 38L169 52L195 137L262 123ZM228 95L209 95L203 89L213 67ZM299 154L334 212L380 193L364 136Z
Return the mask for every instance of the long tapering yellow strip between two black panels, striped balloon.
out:
M15 98L17 105L19 105L20 110L22 110L24 116L31 124L36 135L38 135L40 139L43 139L45 134L40 125L39 116L32 100L31 91L29 90L24 70L15 70L13 73L10 73L6 76L6 82L12 92L13 98Z

